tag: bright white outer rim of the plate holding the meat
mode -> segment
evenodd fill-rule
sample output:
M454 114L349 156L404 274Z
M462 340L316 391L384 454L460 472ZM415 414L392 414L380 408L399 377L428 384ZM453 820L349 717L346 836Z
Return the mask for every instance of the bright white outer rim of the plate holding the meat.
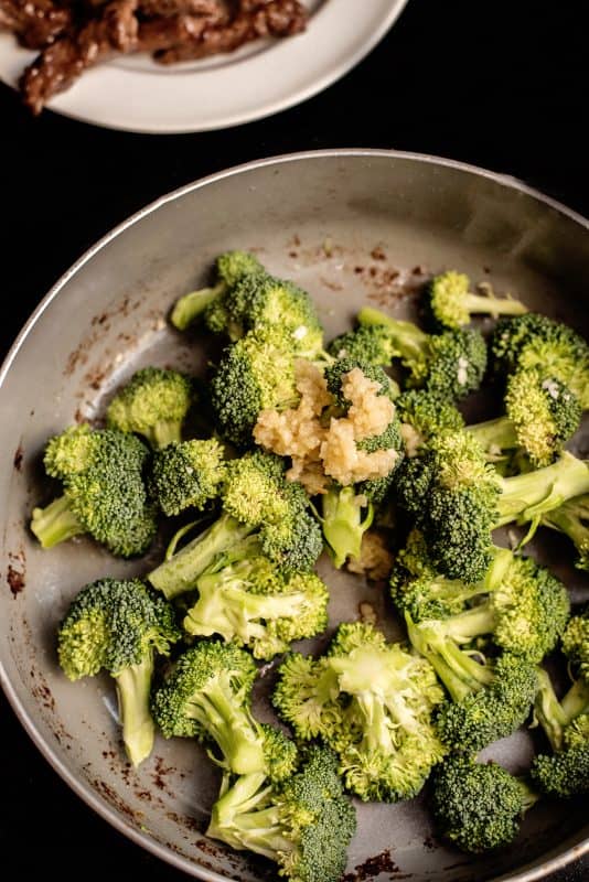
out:
M308 86L302 87L300 89L294 89L290 92L287 96L276 99L271 104L264 105L263 107L258 107L257 109L251 108L249 111L240 111L234 114L227 114L224 117L219 117L216 121L204 122L204 123L149 123L149 125L132 125L127 126L122 122L108 122L108 121L100 121L92 116L87 116L84 112L79 112L77 110L72 109L62 109L58 107L52 107L51 104L46 106L46 110L57 114L58 116L65 117L66 119L73 119L76 122L84 122L89 126L97 126L101 129L111 129L113 131L126 131L126 132L135 132L137 135L190 135L196 132L204 132L204 131L221 131L223 129L233 128L235 126L246 125L248 122L254 122L259 119L267 119L268 117L275 116L283 110L288 110L291 107L296 107L303 101L313 98L315 95L320 94L324 89L332 86L339 79L344 77L350 71L352 71L356 65L358 65L376 47L376 45L386 36L388 31L393 28L396 23L397 19L401 15L405 7L409 2L409 0L393 0L394 6L389 10L387 14L383 15L382 21L372 31L370 36L362 42L355 52L346 55L339 64L334 63L333 67L330 68L323 76L317 78ZM312 23L312 22L311 22ZM11 34L10 34L11 35ZM304 37L304 34L302 34ZM276 46L274 46L276 47ZM245 60L247 61L247 60ZM14 88L14 85L7 79L2 78L2 82L6 83L10 88ZM75 86L75 84L74 84ZM55 96L58 97L58 96Z

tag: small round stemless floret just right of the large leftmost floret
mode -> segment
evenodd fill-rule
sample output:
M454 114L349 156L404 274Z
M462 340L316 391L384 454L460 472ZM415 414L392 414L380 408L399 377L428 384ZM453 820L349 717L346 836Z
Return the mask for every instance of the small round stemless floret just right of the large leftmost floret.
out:
M214 438L172 441L156 452L150 491L164 515L202 509L216 498L225 480L225 450Z

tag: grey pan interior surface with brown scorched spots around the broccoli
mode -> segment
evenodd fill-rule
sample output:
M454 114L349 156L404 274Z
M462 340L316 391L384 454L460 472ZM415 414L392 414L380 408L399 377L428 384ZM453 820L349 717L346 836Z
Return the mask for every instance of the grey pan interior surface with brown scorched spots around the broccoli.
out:
M140 366L204 369L211 342L176 334L165 315L229 248L256 251L270 271L307 288L328 338L366 303L416 318L424 278L446 268L489 281L587 336L589 229L525 187L442 161L343 151L254 163L172 194L107 237L58 283L9 356L0 387L7 693L60 774L126 835L200 879L255 882L276 878L272 868L204 837L218 788L204 751L159 739L133 771L108 678L71 684L56 665L55 627L72 596L99 577L146 573L161 544L149 559L121 562L86 539L42 551L25 526L33 505L53 495L41 464L50 434L99 419L113 388ZM554 566L567 546L543 535L534 553ZM587 595L579 573L555 569L576 598ZM381 589L335 572L326 560L320 572L332 594L331 627L357 619L367 602L378 624L400 635ZM265 697L271 680L270 670L257 706L263 720L271 719ZM533 738L517 732L483 755L523 771ZM436 839L422 798L358 805L345 879L538 879L588 848L586 818L586 804L546 803L529 813L513 848L478 858Z

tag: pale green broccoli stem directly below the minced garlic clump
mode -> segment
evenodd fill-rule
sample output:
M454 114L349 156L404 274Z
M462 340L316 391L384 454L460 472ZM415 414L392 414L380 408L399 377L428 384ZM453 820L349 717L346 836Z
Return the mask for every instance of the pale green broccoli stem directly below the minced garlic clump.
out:
M323 536L336 569L343 567L347 558L360 560L362 537L374 518L374 507L370 503L364 519L362 508L353 486L331 487L321 497Z

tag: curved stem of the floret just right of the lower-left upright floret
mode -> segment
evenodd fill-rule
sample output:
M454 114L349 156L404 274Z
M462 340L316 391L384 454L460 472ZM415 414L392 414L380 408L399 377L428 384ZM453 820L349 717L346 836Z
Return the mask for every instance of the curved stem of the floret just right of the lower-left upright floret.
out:
M189 717L196 720L218 745L223 759L212 757L237 775L266 766L264 742L248 709L235 700L232 675L223 671L205 690L193 696Z

